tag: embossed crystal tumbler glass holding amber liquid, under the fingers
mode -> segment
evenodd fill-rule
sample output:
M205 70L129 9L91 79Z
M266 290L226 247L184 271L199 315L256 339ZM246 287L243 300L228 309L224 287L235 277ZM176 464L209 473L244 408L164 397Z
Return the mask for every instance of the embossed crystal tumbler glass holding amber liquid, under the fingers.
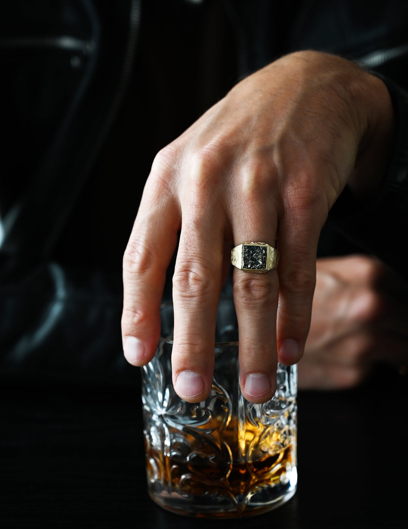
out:
M264 404L239 388L238 327L232 299L218 307L210 396L190 404L174 391L173 306L161 307L155 357L142 370L146 474L157 504L190 516L265 512L296 490L296 366L277 368L277 389Z

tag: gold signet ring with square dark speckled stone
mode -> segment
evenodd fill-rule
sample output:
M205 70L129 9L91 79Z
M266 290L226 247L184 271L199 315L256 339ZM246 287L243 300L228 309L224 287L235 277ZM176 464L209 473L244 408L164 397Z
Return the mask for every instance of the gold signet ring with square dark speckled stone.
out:
M244 242L231 250L231 263L248 272L267 272L277 267L279 252L266 242Z

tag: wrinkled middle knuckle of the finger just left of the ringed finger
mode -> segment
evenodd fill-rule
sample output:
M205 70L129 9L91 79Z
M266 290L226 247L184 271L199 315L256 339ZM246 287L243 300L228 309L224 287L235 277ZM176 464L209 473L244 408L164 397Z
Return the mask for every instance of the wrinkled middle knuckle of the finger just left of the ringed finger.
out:
M206 296L214 293L215 281L212 270L200 261L177 263L173 275L173 294L179 297Z

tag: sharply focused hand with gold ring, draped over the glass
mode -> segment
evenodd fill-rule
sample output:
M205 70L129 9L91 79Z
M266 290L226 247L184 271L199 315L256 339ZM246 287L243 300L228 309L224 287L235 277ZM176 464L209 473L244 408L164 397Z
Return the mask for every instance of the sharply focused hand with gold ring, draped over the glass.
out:
M199 402L211 390L215 319L231 244L279 240L280 263L234 271L240 384L251 402L275 392L276 363L297 362L308 334L319 233L347 181L368 193L393 127L383 82L318 52L283 57L236 85L157 154L124 256L124 353L154 355L173 277L173 382ZM370 179L366 179L366 175Z

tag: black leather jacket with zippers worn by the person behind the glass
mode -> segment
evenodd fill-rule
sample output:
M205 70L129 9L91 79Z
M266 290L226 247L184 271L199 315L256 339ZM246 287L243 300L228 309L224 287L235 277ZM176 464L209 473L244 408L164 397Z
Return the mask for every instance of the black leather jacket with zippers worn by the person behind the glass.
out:
M407 3L0 4L4 377L133 380L120 263L155 152L237 80L301 49L355 60L390 89L397 138L382 189L364 210L346 190L331 221L404 273Z

